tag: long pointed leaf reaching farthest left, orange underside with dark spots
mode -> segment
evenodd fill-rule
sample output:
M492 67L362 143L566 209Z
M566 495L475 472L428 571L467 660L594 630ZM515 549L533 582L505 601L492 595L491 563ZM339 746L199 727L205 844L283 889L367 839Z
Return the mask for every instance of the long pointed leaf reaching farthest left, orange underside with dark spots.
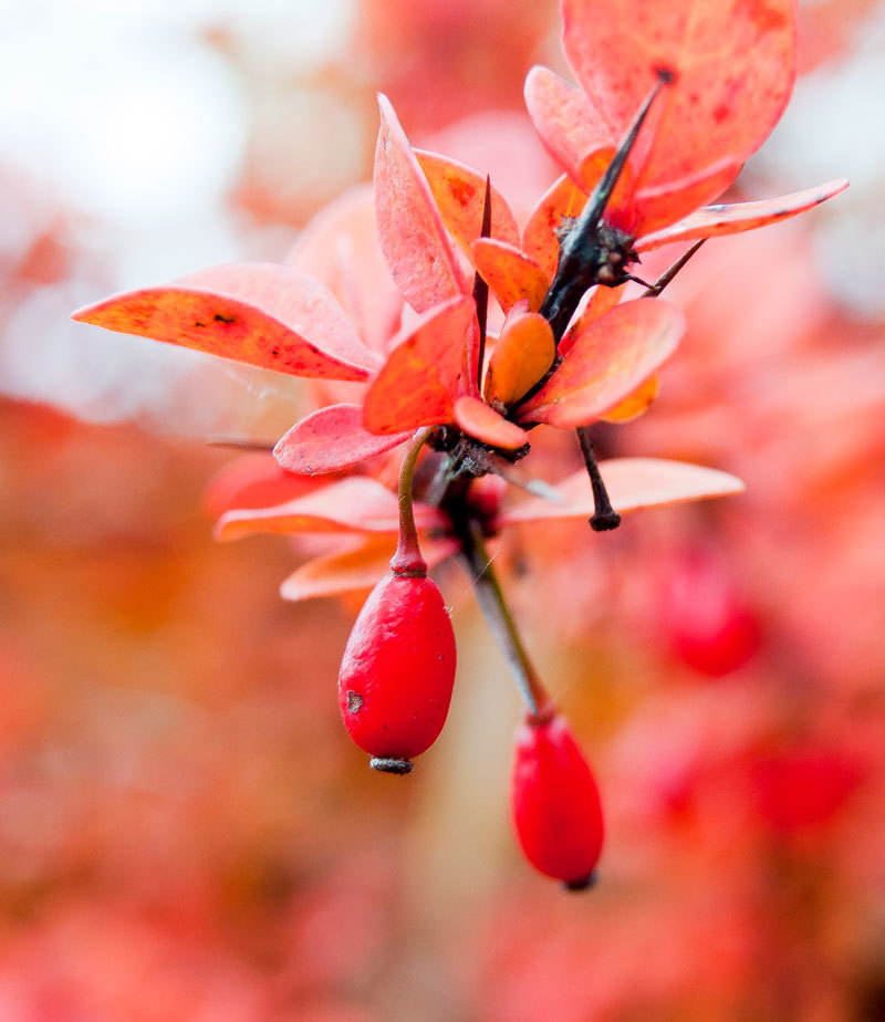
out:
M330 291L275 263L201 270L73 319L294 376L365 379L378 365Z

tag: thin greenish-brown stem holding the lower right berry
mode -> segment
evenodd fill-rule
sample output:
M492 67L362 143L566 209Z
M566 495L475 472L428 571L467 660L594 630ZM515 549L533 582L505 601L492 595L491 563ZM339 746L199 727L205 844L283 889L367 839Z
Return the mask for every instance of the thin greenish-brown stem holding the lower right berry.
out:
M551 699L522 645L501 583L491 566L481 530L476 522L471 522L461 536L461 553L470 569L480 609L503 650L520 695L532 717L540 719L542 712L551 706Z

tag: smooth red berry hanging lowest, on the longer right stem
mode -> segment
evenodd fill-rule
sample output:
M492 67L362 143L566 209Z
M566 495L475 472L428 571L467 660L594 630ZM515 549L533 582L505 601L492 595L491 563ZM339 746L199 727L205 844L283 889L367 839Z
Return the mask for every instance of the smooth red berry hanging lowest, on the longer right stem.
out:
M516 744L513 822L525 857L572 890L590 887L602 852L602 806L565 718L528 716Z

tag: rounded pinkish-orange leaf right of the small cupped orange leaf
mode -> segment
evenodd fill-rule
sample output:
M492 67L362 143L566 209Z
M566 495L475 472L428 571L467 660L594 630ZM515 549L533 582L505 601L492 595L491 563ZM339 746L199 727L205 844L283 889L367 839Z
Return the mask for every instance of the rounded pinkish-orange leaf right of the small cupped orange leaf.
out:
M684 330L679 310L659 300L617 305L587 324L519 418L560 429L586 426L650 376L673 353Z

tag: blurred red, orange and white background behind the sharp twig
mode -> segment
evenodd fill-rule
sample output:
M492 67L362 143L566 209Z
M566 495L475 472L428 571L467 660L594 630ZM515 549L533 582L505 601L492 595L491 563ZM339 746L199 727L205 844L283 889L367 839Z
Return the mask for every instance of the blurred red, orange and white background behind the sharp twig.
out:
M0 12L0 1022L885 1019L885 4L802 7L731 198L852 187L710 242L660 398L600 435L747 493L503 559L603 790L583 897L513 846L518 702L462 574L451 719L404 783L340 724L358 603L283 603L282 538L212 544L238 456L206 440L275 439L301 385L69 320L282 258L368 179L378 90L523 208L555 3Z

